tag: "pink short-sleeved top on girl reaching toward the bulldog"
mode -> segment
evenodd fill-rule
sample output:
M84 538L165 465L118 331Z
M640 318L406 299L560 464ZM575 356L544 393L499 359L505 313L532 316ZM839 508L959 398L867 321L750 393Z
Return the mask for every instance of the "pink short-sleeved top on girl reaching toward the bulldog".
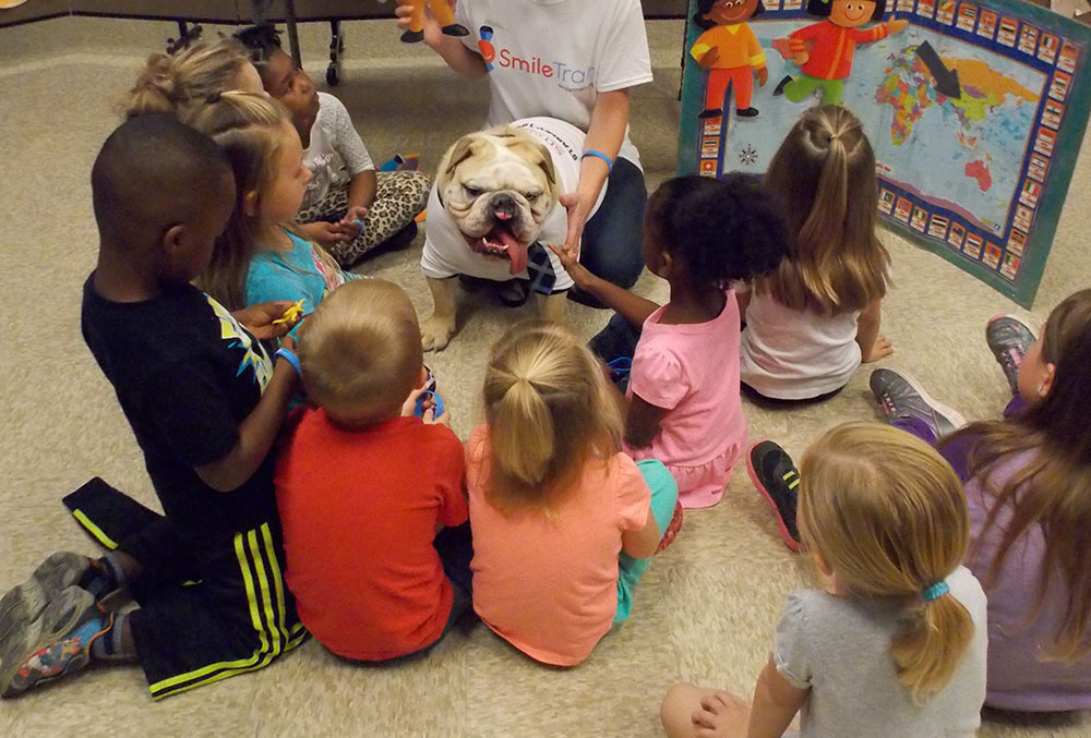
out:
M666 305L648 316L636 344L628 396L667 409L659 435L645 448L625 445L637 461L659 459L679 484L685 508L720 501L746 446L739 397L739 303L724 292L720 315L707 323L667 325Z

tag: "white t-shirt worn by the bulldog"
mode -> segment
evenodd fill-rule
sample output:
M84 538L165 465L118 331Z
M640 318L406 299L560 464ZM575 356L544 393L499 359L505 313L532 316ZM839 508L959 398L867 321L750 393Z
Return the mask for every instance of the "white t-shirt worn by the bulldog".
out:
M556 172L556 180L561 192L572 192L579 181L579 157L584 150L584 132L571 123L553 118L527 118L512 123L528 132L540 143L550 149L553 155L553 169ZM591 208L591 216L599 209L602 198L607 194L607 186L602 185L599 199ZM547 243L564 243L568 235L568 214L564 206L558 204L553 211L546 216L542 222L538 241L544 245ZM436 247L436 244L440 244ZM552 251L549 251L550 262L553 264L553 271L556 274L556 281L553 290L567 290L572 288L572 277L561 266L561 259ZM432 192L428 196L428 220L424 227L424 250L420 255L420 267L425 277L444 279L455 275L469 275L470 277L481 277L494 281L506 281L512 278L526 279L527 270L524 269L517 275L511 273L511 262L507 259L490 258L475 251L471 251L466 243L455 221L451 219L447 211L440 204L440 193L436 184L432 184Z

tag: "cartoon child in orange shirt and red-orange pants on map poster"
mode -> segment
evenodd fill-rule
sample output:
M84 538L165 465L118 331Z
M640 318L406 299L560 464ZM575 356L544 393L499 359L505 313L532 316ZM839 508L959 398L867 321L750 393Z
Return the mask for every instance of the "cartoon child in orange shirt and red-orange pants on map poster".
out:
M728 83L735 95L735 113L742 118L753 118L757 108L751 107L754 94L754 76L765 86L769 70L765 66L765 52L747 19L765 11L762 0L697 0L697 12L693 22L705 28L705 33L690 49L697 63L708 70L708 88L705 93L705 109L698 118L719 118L727 107L724 95Z

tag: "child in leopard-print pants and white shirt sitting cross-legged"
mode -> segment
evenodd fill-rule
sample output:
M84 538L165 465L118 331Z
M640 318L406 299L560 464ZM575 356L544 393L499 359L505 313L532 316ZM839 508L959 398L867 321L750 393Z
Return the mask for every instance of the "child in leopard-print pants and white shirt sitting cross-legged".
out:
M303 144L312 178L296 215L300 231L346 269L377 246L412 241L415 218L428 202L429 178L418 171L376 173L345 106L315 90L307 72L280 48L273 26L252 26L238 38L251 50L265 90L291 111Z

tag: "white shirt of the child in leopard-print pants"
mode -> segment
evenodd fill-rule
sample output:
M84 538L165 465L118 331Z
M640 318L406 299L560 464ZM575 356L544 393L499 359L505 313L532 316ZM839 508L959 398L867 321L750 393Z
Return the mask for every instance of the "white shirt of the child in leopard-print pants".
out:
M311 170L311 181L303 192L300 210L326 196L329 185L341 177L341 162L349 177L375 168L345 105L333 95L319 93L319 116L311 126L311 145L303 149L303 164Z

